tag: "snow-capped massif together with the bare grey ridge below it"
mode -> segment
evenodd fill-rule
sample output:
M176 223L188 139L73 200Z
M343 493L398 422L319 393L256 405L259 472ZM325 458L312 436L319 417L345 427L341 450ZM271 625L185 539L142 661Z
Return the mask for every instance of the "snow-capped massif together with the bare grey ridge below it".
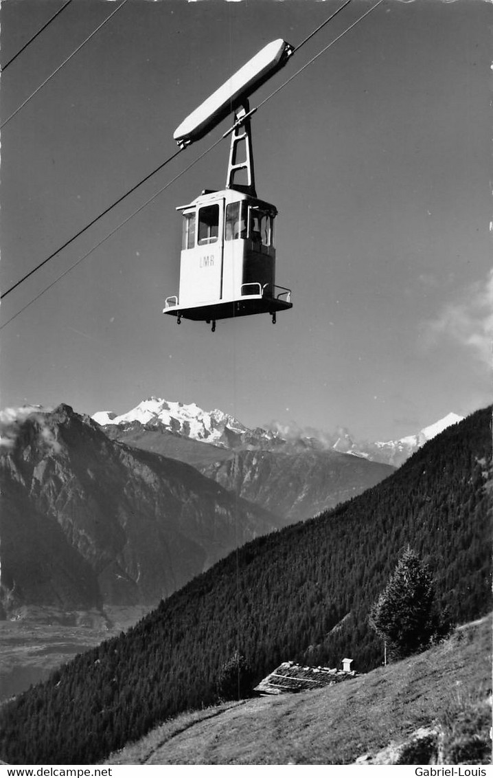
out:
M96 413L110 438L193 464L225 489L289 522L343 503L393 472L315 438L248 429L222 411L149 398L121 416Z

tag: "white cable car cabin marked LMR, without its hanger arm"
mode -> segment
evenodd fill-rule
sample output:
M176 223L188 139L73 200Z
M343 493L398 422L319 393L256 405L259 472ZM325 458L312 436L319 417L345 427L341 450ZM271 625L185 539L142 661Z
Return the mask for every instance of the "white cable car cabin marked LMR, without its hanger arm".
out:
M164 314L212 321L271 314L292 307L291 290L275 285L274 205L235 189L202 192L182 205L180 293Z

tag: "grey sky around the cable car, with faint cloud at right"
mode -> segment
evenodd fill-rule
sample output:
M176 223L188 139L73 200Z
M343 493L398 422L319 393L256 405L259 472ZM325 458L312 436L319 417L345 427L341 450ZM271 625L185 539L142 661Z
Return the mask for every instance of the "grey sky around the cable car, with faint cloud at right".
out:
M2 292L173 154L178 124L261 47L299 44L341 4L128 0L11 117L118 5L72 0L2 73ZM352 0L250 106L373 4ZM61 5L2 0L0 61ZM121 414L155 395L388 440L488 405L491 13L384 0L253 116L257 194L278 208L277 282L292 289L277 324L212 333L162 314L176 206L224 187L229 142L170 182L227 118L5 296L0 408Z

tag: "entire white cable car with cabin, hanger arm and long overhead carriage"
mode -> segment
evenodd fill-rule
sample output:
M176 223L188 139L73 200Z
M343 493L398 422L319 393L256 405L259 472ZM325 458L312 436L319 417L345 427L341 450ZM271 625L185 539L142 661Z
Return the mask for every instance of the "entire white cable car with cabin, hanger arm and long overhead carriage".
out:
M292 307L291 291L276 286L277 209L257 198L255 190L247 100L291 51L283 40L268 44L175 132L180 145L187 145L224 117L228 103L229 110L232 104L236 110L226 188L205 190L177 209L183 213L180 289L178 296L166 298L163 313L177 317L178 324L181 318L207 321L214 330L218 319L264 313L275 322L279 310Z

